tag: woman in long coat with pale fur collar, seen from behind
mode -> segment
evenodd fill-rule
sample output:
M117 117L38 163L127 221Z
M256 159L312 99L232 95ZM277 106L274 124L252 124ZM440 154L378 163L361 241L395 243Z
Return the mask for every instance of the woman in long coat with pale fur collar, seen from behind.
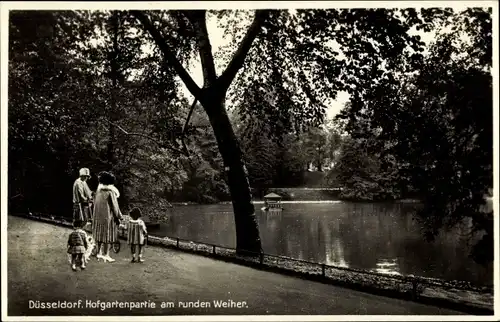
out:
M111 246L118 238L118 225L123 216L118 206L118 193L114 186L115 176L110 172L99 174L99 186L94 197L92 234L97 243L97 260L114 262L109 256ZM103 247L105 254L103 254Z

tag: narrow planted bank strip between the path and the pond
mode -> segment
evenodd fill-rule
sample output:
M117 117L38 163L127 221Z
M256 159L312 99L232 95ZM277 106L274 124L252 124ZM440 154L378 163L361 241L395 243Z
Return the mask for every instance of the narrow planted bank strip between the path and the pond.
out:
M70 227L64 219L14 215L27 219ZM124 236L120 236L124 239ZM148 244L176 251L194 253L213 259L241 264L260 270L298 278L331 283L350 289L406 299L439 307L453 308L470 314L493 314L493 292L489 287L462 285L458 281L441 281L418 276L392 276L363 270L328 266L268 254L243 256L232 248L193 242L172 237L149 236Z

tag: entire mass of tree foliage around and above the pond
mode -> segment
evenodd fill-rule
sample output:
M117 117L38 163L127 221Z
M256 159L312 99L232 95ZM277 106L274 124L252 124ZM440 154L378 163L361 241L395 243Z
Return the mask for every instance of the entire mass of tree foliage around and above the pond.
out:
M215 53L210 19L232 40ZM249 186L317 170L346 199L418 196L429 238L472 218L492 258L491 10L15 11L9 28L11 205L70 214L78 168L111 170L125 209L231 200L258 251Z

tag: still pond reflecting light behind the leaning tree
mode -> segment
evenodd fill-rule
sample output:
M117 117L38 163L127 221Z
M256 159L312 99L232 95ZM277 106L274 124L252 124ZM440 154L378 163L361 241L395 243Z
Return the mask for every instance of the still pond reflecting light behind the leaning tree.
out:
M493 268L469 257L468 228L443 232L426 242L413 217L415 204L284 204L281 215L267 215L256 204L264 252L330 265L414 274L478 285L493 284ZM232 205L175 206L167 223L152 235L235 247Z

